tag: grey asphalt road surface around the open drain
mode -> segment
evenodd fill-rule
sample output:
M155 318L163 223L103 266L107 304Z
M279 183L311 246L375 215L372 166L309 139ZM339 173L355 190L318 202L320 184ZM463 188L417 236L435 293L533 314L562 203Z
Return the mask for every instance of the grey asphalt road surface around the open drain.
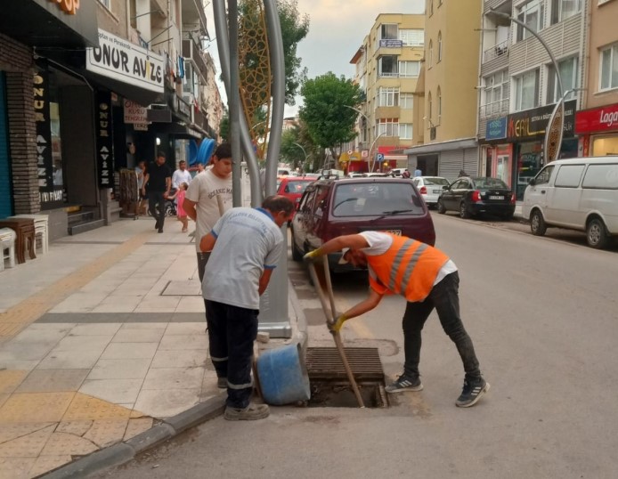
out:
M524 225L452 215L435 215L435 227L437 246L459 267L462 318L492 384L474 408L454 406L459 356L432 317L421 354L425 390L395 394L390 408L216 418L96 477L614 478L616 248L588 248L581 233L536 238ZM305 298L310 341L327 344L305 272L290 276ZM341 310L366 294L363 274L336 283ZM401 368L404 306L388 297L344 329L346 345L380 347L390 376Z

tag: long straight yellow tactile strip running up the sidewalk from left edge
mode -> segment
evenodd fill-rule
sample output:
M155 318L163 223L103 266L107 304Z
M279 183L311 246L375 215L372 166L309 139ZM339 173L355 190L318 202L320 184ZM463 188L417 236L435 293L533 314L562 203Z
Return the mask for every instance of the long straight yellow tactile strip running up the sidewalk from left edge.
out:
M111 266L130 255L135 249L140 248L150 236L150 231L143 231L135 235L89 264L85 264L77 271L38 291L36 295L15 304L6 313L0 314L0 337L12 337L17 334L53 306L60 304L77 289L84 287L102 272L107 271Z

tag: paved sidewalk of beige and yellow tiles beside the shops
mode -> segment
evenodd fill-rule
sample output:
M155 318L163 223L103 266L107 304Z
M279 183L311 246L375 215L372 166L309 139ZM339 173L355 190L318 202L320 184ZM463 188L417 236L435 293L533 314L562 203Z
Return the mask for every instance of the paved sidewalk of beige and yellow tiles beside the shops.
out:
M126 441L221 394L195 246L121 220L0 272L0 479Z

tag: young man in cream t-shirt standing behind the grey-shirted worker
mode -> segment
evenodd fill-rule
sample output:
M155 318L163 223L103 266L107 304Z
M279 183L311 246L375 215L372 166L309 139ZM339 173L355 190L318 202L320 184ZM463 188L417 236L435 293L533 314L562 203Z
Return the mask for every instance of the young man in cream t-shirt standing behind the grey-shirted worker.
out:
M196 175L189 184L183 208L195 222L195 248L198 256L198 276L204 279L210 253L199 250L199 239L207 235L217 220L232 207L232 146L220 144L211 158L212 167Z

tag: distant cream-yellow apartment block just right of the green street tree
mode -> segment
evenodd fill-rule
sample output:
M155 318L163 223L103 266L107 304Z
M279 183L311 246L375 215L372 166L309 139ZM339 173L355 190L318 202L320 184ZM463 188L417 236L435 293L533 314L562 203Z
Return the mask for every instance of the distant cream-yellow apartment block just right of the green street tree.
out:
M423 15L381 13L354 53L354 81L366 100L357 108L359 135L343 155L349 158L348 171L408 166L403 150L414 135L412 95L424 51L424 21Z

